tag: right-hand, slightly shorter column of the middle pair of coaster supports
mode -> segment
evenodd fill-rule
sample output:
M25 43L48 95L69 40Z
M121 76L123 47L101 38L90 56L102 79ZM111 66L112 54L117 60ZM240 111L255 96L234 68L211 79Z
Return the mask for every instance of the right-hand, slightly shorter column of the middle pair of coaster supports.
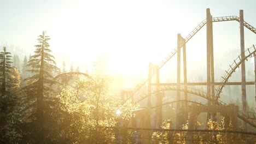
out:
M186 54L186 42L185 39L183 39L183 78L184 78L184 90L187 91L188 89L188 80L187 80L187 54ZM188 93L184 92L184 99L188 100ZM184 105L184 118L185 122L188 121L188 102L185 102Z

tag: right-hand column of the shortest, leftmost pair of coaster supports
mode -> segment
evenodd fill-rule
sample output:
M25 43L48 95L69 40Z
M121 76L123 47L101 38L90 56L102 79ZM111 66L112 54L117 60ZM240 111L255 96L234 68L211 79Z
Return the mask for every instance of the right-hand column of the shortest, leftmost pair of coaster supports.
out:
M158 91L158 93L156 93L156 99L157 99L157 104L159 105L156 110L157 110L157 127L161 128L162 125L162 94L159 92L160 86L160 80L159 80L159 68L158 65L154 65L154 70L156 70L156 91Z

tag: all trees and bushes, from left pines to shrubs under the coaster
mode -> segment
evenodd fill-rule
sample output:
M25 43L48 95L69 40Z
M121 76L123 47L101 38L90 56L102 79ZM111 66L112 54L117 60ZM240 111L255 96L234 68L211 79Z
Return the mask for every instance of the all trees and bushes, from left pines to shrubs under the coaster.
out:
M171 131L171 119L162 123L160 131L129 128L139 105L118 97L114 77L109 76L104 59L94 63L94 73L74 79L72 85L57 81L62 72L51 55L50 37L43 31L38 36L33 55L24 58L18 70L18 56L12 56L8 47L0 53L1 98L0 143L185 143L188 123L182 120L182 129ZM73 65L69 73L79 73ZM196 122L194 129L202 123ZM211 119L206 130L232 130L228 118L220 123ZM167 130L167 131L166 131ZM143 137L144 136L144 137ZM146 137L145 137L146 136ZM239 139L238 139L239 138ZM248 135L207 132L193 136L194 143L247 143ZM139 140L141 139L141 140ZM144 139L144 140L143 140Z

